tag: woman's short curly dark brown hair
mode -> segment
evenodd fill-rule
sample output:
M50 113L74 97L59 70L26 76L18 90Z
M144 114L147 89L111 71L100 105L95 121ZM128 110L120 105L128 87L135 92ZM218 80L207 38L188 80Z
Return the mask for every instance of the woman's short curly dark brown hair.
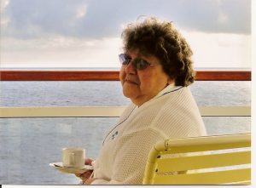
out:
M195 80L193 54L189 44L172 22L147 18L128 25L122 32L124 50L138 49L141 54L154 55L175 85L189 86Z

